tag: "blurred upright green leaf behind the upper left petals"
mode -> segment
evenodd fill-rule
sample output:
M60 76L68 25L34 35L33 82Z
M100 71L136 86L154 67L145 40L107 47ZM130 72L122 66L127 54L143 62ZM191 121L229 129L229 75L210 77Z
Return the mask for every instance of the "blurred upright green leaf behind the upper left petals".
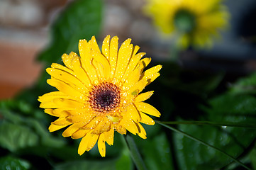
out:
M77 0L68 6L52 26L52 42L39 59L60 62L64 53L77 52L80 39L98 35L101 27L101 0Z

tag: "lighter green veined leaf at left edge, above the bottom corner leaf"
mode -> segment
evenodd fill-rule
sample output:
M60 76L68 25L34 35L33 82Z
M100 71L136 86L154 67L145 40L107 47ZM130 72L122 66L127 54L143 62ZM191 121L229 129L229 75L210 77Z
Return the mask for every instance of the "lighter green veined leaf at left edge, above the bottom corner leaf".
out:
M2 122L0 124L0 145L14 152L17 149L38 145L38 136L23 125Z

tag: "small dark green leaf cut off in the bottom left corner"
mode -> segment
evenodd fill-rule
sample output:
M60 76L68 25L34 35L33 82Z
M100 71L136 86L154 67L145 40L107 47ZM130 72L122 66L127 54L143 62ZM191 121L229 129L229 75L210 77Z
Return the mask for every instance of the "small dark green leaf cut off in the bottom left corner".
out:
M2 170L10 170L10 169L26 170L29 168L30 168L30 164L23 159L17 159L14 157L0 158L0 169Z

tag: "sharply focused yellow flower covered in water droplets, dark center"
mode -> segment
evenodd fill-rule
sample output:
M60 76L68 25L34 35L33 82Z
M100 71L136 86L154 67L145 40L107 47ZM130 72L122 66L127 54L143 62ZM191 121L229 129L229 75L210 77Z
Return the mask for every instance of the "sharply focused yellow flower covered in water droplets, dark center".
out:
M106 155L106 145L113 145L114 131L126 134L126 130L146 138L140 123L154 125L148 115L160 116L148 103L153 91L141 91L160 76L161 65L145 72L150 58L145 52L137 54L140 47L133 47L130 38L118 50L118 37L106 36L102 52L94 37L79 40L79 54L62 55L65 66L53 63L46 69L51 79L48 84L58 91L38 98L45 113L59 117L51 123L53 132L69 125L64 137L82 138L78 153L89 151L98 142L99 153ZM147 115L148 114L148 115Z

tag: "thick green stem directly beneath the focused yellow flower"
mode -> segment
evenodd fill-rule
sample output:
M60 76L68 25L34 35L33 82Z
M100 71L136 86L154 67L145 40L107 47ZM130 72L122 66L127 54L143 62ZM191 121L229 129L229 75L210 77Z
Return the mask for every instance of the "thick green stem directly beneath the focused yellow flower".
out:
M123 136L123 135L122 135ZM126 135L125 139L126 145L128 146L130 150L130 157L133 159L133 162L138 170L147 170L142 157L140 156L140 152L138 151L138 148L133 140L133 137L130 135Z

